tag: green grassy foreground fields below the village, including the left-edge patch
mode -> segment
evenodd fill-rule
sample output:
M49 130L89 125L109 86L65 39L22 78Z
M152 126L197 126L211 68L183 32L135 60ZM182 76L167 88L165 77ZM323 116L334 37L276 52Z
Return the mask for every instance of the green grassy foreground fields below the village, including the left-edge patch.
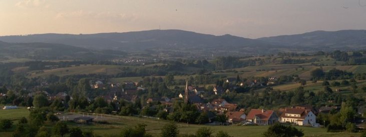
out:
M13 117L21 117L28 116L27 109L13 109L13 110L1 110L0 117L8 116L12 113L19 113ZM74 116L81 114L72 114ZM96 115L90 115L96 117ZM69 116L67 116L69 117ZM98 118L97 118L98 119ZM100 117L99 117L100 119ZM146 131L153 136L159 136L161 132L161 128L164 124L170 122L168 120L158 120L151 118L143 118L136 116L103 116L104 121L108 121L111 124L90 124L90 125L81 125L76 123L68 122L70 127L78 126L82 130L93 130L93 132L97 135L108 136L108 135L118 135L121 130L125 127L135 126L139 123L146 124ZM238 125L198 125L198 124L186 124L186 123L178 123L178 128L181 134L185 133L195 133L195 131L203 126L210 127L213 129L214 134L219 130L223 130L228 132L232 136L261 136L261 133L267 130L269 126L238 126ZM53 124L47 123L46 127L52 128ZM304 126L295 126L299 129L304 130L305 136L358 136L359 133L348 133L348 132L326 132L325 128L313 128L313 127L304 127ZM12 131L15 129L15 126L9 130L9 132L0 132L0 136L11 136Z

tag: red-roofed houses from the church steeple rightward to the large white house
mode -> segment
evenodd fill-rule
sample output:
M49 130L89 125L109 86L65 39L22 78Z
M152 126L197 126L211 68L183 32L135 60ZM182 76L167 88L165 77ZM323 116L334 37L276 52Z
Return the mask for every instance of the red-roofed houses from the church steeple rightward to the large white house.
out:
M268 125L275 122L289 122L296 125L307 125L318 127L319 123L316 123L317 111L311 106L294 106L289 108L280 108L278 111L275 110L265 110L265 109L250 109L248 113L245 113L244 109L238 108L237 104L229 103L225 99L215 98L211 102L204 103L204 99L200 96L200 93L204 92L201 87L186 87L188 93L179 94L180 98L187 99L187 101L194 103L197 109L206 112L213 112L218 114L225 114L227 116L227 122L243 123L243 124L258 124L258 125ZM215 90L214 90L215 91ZM188 95L188 97L185 97ZM172 100L166 97L162 98L148 98L147 102L160 101L162 104L171 104ZM321 107L318 111L324 111L327 106ZM329 109L332 107L329 107ZM329 110L326 109L326 110ZM169 110L169 109L168 109ZM213 119L214 114L209 114L209 119Z

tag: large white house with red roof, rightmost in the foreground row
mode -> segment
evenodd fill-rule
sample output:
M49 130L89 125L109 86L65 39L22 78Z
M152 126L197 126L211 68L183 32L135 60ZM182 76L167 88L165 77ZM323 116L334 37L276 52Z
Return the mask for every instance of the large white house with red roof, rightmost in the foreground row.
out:
M297 125L313 125L316 122L316 115L310 109L285 108L282 112L281 122L291 122Z

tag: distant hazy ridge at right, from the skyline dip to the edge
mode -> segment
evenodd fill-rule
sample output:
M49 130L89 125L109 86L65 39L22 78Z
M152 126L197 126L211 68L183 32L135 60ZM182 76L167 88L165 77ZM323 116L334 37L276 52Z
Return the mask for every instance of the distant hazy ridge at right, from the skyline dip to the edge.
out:
M317 30L302 34L262 37L258 40L290 47L357 50L366 47L366 30Z

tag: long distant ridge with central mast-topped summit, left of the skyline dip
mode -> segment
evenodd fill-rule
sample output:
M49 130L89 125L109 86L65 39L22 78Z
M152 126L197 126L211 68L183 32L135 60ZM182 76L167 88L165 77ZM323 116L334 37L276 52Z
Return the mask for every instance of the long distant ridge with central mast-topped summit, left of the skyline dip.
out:
M49 42L69 44L89 49L117 49L138 51L154 48L218 48L270 47L266 42L232 36L215 36L184 30L146 30L134 32L112 32L96 34L32 34L26 36L1 36L7 42Z

